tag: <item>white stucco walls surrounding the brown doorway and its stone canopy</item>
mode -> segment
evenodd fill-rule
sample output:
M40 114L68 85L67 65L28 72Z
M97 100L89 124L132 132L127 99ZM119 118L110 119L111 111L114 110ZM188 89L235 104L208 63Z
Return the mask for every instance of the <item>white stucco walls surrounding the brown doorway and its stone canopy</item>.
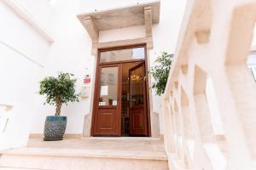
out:
M19 116L19 121L15 122L14 128L22 127L27 137L28 133L43 133L45 116L55 113L55 107L43 105L44 97L37 94L38 81L42 77L56 75L59 71L72 72L78 78L78 92L83 85L85 74L95 78L93 72L96 56L91 54L90 37L76 15L95 11L95 9L119 8L150 1L111 0L106 3L106 1L65 0L56 1L55 6L51 6L46 0L38 3L26 0L14 2L37 20L42 29L54 39L54 42L49 42L44 35L40 34L40 31L31 26L31 23L20 20L20 15L15 14L14 8L8 6L9 3L0 3L1 18L5 23L1 27L3 35L1 36L1 60L3 60L1 64L4 63L0 68L1 77L4 80L1 88L1 96L3 96L1 102L14 105L13 110L9 111L13 117ZM153 27L154 49L149 54L150 63L153 63L155 57L162 51L173 53L185 3L185 0L175 3L161 1L160 23ZM9 31L10 29L12 31ZM99 41L110 42L137 37L145 37L144 26L100 31ZM152 97L153 111L159 114L160 133L163 133L160 97L154 94ZM79 103L63 106L62 115L68 116L66 133L83 133L84 115L90 112L90 102L90 98L85 98L80 99ZM22 107L20 108L19 105ZM24 139L26 141L26 138Z

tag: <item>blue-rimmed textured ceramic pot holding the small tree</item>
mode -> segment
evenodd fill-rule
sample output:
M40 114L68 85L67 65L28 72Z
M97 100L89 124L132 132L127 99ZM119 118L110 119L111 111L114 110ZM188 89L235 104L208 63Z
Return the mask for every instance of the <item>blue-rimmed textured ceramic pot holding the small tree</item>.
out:
M46 116L44 141L62 140L67 127L67 116Z

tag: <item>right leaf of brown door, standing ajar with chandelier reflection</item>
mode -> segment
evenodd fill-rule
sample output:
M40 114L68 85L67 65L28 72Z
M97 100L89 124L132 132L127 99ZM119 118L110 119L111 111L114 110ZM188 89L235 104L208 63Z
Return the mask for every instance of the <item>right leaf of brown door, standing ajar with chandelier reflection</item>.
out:
M130 136L148 136L144 62L129 70Z

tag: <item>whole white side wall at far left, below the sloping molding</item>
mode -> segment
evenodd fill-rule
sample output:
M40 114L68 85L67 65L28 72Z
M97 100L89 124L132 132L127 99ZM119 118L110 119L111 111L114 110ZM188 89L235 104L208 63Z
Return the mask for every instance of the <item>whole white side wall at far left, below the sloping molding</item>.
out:
M4 138L0 138L3 149L26 145L32 118L38 115L38 81L49 42L3 2L0 21L0 103L14 105L8 112Z

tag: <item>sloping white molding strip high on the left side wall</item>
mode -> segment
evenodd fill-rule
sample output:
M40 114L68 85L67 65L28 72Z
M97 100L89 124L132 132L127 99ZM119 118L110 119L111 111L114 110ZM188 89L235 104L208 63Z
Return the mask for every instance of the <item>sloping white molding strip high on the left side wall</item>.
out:
M46 41L49 43L55 42L54 37L50 35L50 33L42 26L38 20L35 20L32 17L32 14L29 14L25 8L23 8L20 3L18 3L16 0L3 0L3 3L5 3L9 8L12 8L15 11L15 14L17 14L20 19L26 20L26 22L32 26L35 31L38 32Z

